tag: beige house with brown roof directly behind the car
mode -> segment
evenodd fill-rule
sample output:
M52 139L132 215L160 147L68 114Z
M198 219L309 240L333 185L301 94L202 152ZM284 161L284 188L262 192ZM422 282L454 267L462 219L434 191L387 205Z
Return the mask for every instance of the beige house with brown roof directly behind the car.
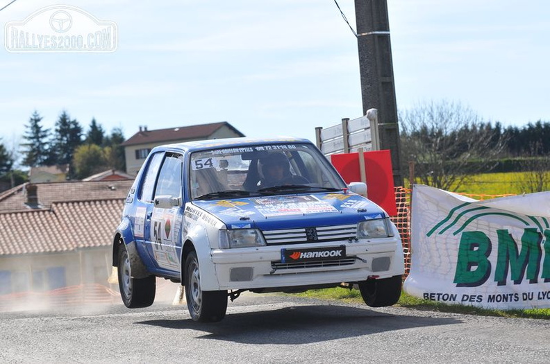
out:
M140 126L139 132L121 144L124 146L126 173L135 176L151 149L162 144L235 137L244 137L244 134L227 121L158 130Z

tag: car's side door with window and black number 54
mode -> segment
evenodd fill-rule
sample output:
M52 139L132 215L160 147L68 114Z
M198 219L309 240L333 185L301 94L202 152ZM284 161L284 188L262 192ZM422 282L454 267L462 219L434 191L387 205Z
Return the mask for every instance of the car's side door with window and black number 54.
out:
M166 153L158 173L153 201L159 197L175 198L178 205L165 208L153 203L149 241L153 259L159 268L178 272L180 269L183 156Z

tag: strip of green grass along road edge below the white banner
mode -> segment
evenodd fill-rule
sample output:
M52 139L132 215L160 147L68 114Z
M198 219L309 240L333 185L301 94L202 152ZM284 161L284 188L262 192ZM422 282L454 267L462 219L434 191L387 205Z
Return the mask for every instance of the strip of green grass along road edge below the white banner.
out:
M340 300L348 303L363 303L361 293L357 289L348 288L327 288L310 290L303 293L295 293L299 297L317 298L319 300ZM401 293L399 302L395 306L408 307L422 311L437 311L447 313L461 313L464 315L497 316L503 318L537 318L550 320L550 309L526 309L526 310L494 310L481 309L479 307L463 304L444 304L431 300L422 300L412 297L404 292Z

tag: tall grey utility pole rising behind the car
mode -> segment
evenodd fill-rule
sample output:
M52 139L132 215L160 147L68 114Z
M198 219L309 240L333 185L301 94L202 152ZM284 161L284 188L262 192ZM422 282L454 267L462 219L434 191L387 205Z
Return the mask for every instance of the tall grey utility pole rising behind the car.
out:
M378 109L380 148L389 149L395 186L403 186L387 0L355 0L363 115Z

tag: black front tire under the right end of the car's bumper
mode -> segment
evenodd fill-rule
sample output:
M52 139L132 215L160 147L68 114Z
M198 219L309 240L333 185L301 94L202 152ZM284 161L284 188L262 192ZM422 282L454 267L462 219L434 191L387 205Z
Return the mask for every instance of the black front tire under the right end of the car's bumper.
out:
M392 306L401 296L401 276L358 282L363 301L371 307Z

